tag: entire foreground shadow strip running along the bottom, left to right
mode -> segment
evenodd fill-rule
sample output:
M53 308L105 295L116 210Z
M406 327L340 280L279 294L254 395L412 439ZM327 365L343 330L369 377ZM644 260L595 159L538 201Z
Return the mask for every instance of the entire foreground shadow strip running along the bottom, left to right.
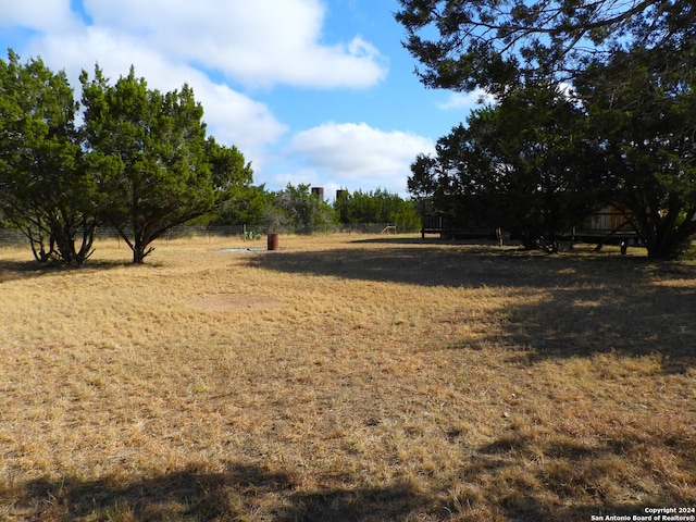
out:
M372 488L346 482L308 493L300 490L289 474L235 463L221 473L189 469L135 481L39 480L15 485L12 492L0 490L0 500L12 509L0 514L40 521L566 522L591 520L593 514L643 514L644 508L652 505L688 505L688 499L673 494L667 480L662 493L646 495L647 504L606 502L607 492L601 489L606 470L595 465L605 451L556 449L556 460L566 456L567 463L539 465L529 482L506 471L515 468L514 461L523 457L525 443L494 443L482 448L467 469L443 484L442 490L430 495L408 484ZM472 495L467 493L468 485L473 487ZM10 495L15 499L12 502L7 501Z

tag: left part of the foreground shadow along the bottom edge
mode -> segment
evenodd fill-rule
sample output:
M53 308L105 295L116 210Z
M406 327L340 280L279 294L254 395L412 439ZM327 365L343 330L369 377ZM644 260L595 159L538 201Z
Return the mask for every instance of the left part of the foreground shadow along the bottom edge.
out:
M297 488L289 474L229 463L221 473L191 468L138 480L38 480L0 489L0 499L18 499L14 513L41 521L399 521L426 505L424 497L401 485L343 485L316 493Z

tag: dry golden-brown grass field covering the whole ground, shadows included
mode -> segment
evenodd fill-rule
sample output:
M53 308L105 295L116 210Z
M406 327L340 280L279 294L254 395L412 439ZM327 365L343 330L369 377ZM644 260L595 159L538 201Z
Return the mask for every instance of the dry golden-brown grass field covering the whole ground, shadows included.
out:
M356 235L0 249L0 520L696 507L696 264Z

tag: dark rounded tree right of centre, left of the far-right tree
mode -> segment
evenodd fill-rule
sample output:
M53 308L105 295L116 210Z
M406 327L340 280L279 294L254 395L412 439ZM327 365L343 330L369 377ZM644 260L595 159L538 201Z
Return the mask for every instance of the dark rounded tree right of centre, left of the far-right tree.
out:
M502 227L527 248L556 251L608 189L583 122L554 88L517 91L440 138L436 158L417 159L409 186L430 190L455 227Z

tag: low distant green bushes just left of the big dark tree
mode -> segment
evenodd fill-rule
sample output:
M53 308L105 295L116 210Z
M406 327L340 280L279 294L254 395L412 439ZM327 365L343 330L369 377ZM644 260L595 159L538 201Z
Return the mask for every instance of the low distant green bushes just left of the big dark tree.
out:
M341 223L389 223L402 232L418 231L421 223L412 201L380 188L370 192L341 192L334 209Z

